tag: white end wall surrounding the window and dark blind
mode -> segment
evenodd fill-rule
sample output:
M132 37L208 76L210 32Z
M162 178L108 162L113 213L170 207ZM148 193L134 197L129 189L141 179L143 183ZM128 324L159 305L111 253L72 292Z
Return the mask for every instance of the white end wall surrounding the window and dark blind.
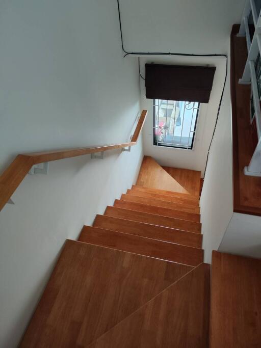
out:
M141 79L142 108L148 110L143 128L144 153L152 156L160 165L201 171L204 175L207 150L210 145L217 117L218 105L225 79L225 58L195 57L150 57L141 58L141 74L145 76L145 63L177 65L211 65L216 66L210 101L201 103L198 114L193 150L169 148L153 145L153 99L145 97L145 83Z

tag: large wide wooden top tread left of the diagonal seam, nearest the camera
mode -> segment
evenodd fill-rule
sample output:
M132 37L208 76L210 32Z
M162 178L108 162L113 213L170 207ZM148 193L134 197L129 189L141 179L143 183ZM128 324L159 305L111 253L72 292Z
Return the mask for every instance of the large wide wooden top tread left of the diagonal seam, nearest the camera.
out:
M191 269L67 240L20 346L87 346Z

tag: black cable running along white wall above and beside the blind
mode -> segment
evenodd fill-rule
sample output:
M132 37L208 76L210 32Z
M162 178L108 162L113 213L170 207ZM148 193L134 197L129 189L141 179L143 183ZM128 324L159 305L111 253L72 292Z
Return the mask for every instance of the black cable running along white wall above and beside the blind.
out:
M222 89L222 93L221 93L221 97L220 97L220 102L219 102L219 106L218 106L218 112L217 112L217 117L216 117L214 130L213 130L213 135L212 135L212 138L211 138L210 146L208 147L208 151L207 151L206 165L205 165L204 176L203 176L203 179L204 179L205 173L206 173L207 162L208 162L208 155L210 153L211 145L212 145L213 138L214 138L214 135L215 135L215 131L216 131L216 128L217 128L219 112L220 112L221 103L222 103L224 90L225 90L225 85L226 85L226 78L227 78L227 55L225 55L223 53L220 53L220 54L207 54L207 55L199 55L199 54L194 55L193 53L176 53L176 52L128 52L127 50L125 50L124 45L123 45L119 0L117 0L117 5L118 5L119 24L120 24L121 47L122 47L123 52L125 53L124 56L123 56L124 58L126 56L130 56L130 55L139 55L139 56L224 57L226 59L226 73L225 73L224 85L223 85L223 89ZM139 63L139 75L140 75L140 77L142 79L145 80L145 78L141 75L141 71L140 71L140 57L138 57L138 63Z

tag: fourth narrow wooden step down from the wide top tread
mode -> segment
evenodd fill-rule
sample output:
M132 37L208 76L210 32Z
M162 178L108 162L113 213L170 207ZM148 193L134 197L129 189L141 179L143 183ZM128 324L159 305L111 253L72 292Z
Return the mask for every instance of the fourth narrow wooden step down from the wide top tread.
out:
M131 197L134 197L134 196L131 196ZM158 215L167 216L170 218L193 221L196 223L199 223L199 221L200 221L199 214L195 214L195 213L187 212L187 211L182 211L182 210L174 210L174 209L163 208L160 206L154 206L154 205L133 202L131 200L116 199L114 201L114 206L119 207L119 208L124 208L124 209L149 212L151 214L158 214Z

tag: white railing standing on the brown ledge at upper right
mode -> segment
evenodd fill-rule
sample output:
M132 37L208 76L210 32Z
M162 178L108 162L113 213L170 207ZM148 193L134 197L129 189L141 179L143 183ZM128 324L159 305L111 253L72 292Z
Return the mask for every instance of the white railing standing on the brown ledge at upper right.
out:
M249 17L253 20L254 34L251 41L249 33ZM261 56L261 10L257 15L257 10L254 0L247 0L243 11L240 30L238 36L245 36L247 43L248 57L242 78L239 79L239 84L249 85L251 84L253 105L254 105L254 117L256 121L258 143L254 150L253 156L247 167L244 168L245 175L261 176L261 109L260 109L260 97L258 95L255 62L258 54ZM250 110L249 110L250 118Z

